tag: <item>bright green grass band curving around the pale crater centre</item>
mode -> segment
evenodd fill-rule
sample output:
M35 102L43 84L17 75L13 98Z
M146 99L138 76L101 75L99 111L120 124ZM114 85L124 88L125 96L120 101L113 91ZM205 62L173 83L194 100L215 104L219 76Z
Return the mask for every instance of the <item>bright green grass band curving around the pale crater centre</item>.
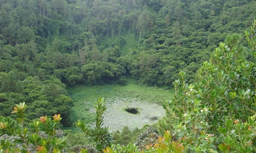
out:
M77 86L68 89L71 98L74 100L74 107L71 108L73 121L84 120L87 123L93 122L95 113L93 106L98 97L126 98L147 101L147 103L162 104L164 99L170 99L173 95L172 90L164 90L158 87L143 87L132 81L125 86L116 84L102 86ZM129 102L127 102L129 103Z

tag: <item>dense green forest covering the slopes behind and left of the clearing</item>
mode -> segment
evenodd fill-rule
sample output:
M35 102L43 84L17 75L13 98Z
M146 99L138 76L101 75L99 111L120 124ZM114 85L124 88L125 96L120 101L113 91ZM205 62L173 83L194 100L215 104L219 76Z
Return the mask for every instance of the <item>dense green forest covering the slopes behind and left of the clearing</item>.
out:
M179 69L193 82L227 34L238 33L226 44L244 43L239 34L256 3L0 0L0 6L0 115L25 101L28 119L61 113L69 125L72 99L64 84L125 84L132 75L141 84L170 86Z

